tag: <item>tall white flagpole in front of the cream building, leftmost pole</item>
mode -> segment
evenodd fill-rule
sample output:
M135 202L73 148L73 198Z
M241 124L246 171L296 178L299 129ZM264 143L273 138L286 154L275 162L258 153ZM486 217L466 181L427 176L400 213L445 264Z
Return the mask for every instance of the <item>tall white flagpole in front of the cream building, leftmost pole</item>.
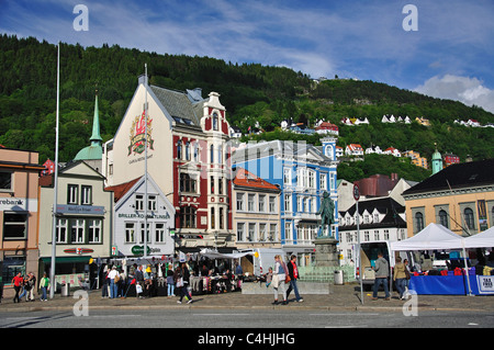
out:
M55 124L55 178L54 178L54 195L53 195L53 224L52 224L52 266L49 269L49 298L54 297L56 282L55 282L55 259L57 255L57 201L58 201L58 123L59 123L59 101L60 101L60 42L58 42L57 53L57 111Z

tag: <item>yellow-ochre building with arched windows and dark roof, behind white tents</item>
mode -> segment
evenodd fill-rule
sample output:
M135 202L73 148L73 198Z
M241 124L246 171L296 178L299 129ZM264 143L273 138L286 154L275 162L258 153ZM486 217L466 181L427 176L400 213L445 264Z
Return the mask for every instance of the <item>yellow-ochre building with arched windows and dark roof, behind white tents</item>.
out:
M450 166L403 192L408 237L430 223L469 236L494 225L494 159Z

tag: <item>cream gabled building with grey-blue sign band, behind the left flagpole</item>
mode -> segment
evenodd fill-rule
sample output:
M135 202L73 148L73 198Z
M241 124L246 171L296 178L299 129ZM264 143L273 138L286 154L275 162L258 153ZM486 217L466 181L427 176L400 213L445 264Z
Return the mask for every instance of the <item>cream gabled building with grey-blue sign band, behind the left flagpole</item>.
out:
M40 272L49 275L53 241L53 176L40 178ZM90 259L111 258L113 193L104 190L104 178L85 161L58 171L56 207L56 270L59 283L93 280ZM92 269L92 270L91 270Z

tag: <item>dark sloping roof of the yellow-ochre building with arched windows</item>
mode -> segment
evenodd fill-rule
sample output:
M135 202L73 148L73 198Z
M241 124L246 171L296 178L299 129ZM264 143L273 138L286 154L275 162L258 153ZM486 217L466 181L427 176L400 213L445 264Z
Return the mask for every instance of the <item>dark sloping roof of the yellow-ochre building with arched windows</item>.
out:
M449 166L425 179L403 195L494 184L494 158Z

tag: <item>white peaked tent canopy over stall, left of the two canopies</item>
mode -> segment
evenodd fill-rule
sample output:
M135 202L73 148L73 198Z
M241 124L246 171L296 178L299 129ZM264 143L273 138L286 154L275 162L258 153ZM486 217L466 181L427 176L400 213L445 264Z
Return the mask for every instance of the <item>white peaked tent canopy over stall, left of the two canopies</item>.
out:
M429 224L414 237L391 242L391 250L461 249L462 238L439 224Z

